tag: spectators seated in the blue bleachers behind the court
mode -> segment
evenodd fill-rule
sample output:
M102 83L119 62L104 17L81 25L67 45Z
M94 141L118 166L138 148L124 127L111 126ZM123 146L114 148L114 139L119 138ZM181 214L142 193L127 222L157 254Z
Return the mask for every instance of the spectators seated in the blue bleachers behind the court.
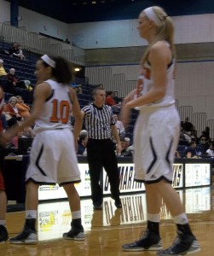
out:
M30 115L32 106L31 104L26 104L23 101L22 97L19 95L20 90L18 89L21 88L24 90L33 90L34 88L34 85L31 84L28 79L19 78L16 75L14 67L9 68L9 70L4 68L3 64L4 61L7 61L7 57L19 58L22 61L26 60L20 45L17 43L14 43L11 48L6 51L5 60L0 59L0 79L7 81L7 84L4 86L3 90L14 95L9 98L7 103L5 103L4 111L1 116L1 120L3 121L3 129L5 131L13 125L19 125L21 120L26 119ZM76 84L74 82L71 84L71 86L74 90L76 90L77 94L83 93L82 84ZM134 153L132 135L126 132L123 123L119 120L122 100L123 99L118 99L115 91L107 91L105 103L113 110L113 119L115 120L115 125L118 129L122 145L122 151L118 156L132 157ZM71 124L73 125L73 121L71 121ZM80 133L78 140L78 155L87 155L88 134L84 126L83 129L84 130ZM115 147L115 154L117 154L117 143L114 137L112 137L112 140ZM12 142L9 144L9 147L16 148L18 145L17 143ZM202 131L201 134L197 134L195 126L189 121L188 117L181 122L179 145L175 155L177 158L214 157L213 148L214 142L211 140L209 127L205 127L205 131Z

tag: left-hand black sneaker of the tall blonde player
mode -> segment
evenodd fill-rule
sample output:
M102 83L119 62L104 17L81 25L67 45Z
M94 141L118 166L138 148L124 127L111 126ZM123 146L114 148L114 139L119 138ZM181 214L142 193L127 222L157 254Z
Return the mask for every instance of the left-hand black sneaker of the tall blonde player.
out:
M146 230L139 240L124 244L122 248L127 252L157 251L162 249L162 241L159 235Z

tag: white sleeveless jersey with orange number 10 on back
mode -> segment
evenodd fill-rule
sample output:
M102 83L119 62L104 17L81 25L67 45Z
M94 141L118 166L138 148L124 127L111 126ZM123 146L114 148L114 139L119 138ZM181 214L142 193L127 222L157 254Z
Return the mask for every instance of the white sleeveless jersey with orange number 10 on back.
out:
M52 94L44 103L43 111L35 121L34 131L71 128L72 102L69 94L69 85L60 84L54 80L45 81L52 89Z

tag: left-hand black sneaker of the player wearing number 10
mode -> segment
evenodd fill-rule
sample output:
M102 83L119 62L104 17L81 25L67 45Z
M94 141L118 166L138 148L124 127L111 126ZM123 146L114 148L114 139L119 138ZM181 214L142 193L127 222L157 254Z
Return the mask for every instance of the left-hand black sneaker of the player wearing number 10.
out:
M24 227L24 230L13 238L9 239L9 243L14 244L37 244L38 243L38 235L37 232L31 230L28 227Z

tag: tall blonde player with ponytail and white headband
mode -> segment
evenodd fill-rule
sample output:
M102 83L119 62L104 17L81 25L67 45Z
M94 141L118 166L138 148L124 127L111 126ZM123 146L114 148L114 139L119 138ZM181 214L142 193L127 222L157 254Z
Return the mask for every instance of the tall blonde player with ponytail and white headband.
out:
M134 134L135 178L146 187L147 230L138 241L125 244L123 250L158 250L159 256L195 253L200 251L199 243L189 227L176 190L171 186L180 131L174 99L174 26L164 9L154 6L141 12L137 29L147 40L148 47L142 56L137 88L124 99L121 121L127 125L130 109L139 109ZM176 241L165 250L159 236L162 199L177 228Z

